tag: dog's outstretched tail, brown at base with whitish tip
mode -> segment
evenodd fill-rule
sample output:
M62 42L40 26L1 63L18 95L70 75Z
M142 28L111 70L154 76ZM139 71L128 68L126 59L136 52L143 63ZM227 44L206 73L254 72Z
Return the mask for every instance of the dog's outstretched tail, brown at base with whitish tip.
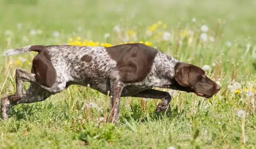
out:
M41 52L46 48L47 48L47 46L41 46L41 45L24 46L24 47L18 48L18 49L9 49L6 51L6 53L4 55L20 54L20 53L26 53L26 52L30 52L30 51Z

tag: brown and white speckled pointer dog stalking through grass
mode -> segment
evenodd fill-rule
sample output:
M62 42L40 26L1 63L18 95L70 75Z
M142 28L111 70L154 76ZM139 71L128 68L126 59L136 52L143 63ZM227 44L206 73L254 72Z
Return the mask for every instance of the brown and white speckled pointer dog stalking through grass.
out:
M30 51L38 52L31 73L17 68L16 94L1 99L3 120L8 118L12 106L45 100L72 84L90 84L105 95L110 92L110 121L115 122L119 120L120 97L162 99L156 111L167 109L170 94L152 87L193 92L206 98L220 90L201 68L179 62L144 44L112 47L34 45L9 49L6 55ZM31 85L23 92L24 81Z

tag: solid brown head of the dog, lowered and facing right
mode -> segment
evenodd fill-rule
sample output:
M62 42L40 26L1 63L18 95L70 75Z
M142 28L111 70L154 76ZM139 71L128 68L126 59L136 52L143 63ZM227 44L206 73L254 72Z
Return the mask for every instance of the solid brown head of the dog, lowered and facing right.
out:
M194 92L206 98L212 97L221 89L206 76L203 69L190 63L178 63L175 66L175 80L186 88L187 92Z

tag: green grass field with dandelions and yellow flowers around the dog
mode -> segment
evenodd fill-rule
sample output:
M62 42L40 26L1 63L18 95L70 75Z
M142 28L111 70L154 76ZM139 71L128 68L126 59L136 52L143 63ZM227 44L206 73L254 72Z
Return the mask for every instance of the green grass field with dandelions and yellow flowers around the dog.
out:
M0 120L0 149L255 149L255 8L255 0L0 0L0 54L33 44L140 42L210 67L221 84L210 99L159 89L172 95L163 113L154 111L160 100L122 97L118 127L100 121L107 95L70 86L12 108ZM30 71L36 54L0 56L0 97L15 93L15 69Z

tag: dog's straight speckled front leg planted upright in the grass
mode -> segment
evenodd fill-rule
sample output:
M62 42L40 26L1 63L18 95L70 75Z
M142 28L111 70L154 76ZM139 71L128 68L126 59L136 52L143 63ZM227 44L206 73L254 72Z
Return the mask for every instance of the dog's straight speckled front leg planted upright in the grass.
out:
M111 80L111 112L109 122L117 123L120 115L120 97L124 83L119 80Z

